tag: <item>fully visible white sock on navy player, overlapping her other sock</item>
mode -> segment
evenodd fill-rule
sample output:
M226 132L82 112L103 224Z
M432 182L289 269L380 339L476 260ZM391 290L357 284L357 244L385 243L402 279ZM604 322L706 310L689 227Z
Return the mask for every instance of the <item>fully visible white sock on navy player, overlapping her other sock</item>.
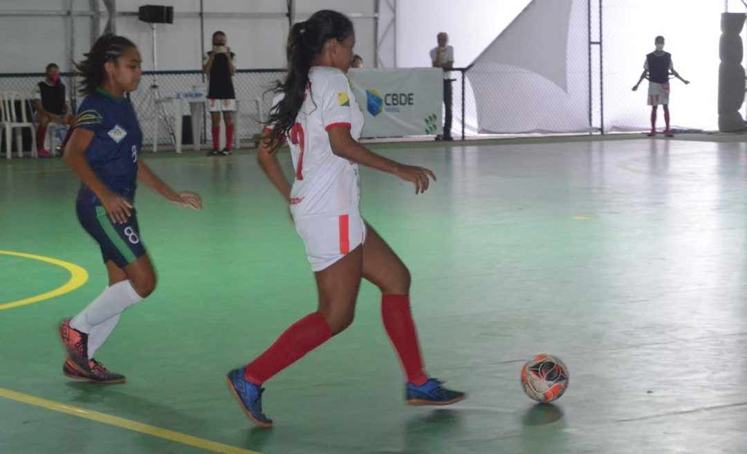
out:
M140 301L143 301L143 298L137 295L129 280L117 282L113 286L107 287L81 313L72 317L70 326L82 333L90 334L94 326L123 313L132 304Z

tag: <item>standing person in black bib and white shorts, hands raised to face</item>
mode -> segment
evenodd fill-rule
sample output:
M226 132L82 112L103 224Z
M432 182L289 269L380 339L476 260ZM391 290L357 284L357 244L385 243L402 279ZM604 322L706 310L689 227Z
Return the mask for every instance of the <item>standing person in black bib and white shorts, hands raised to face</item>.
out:
M216 31L213 34L213 49L205 56L202 72L208 75L208 108L213 132L213 149L208 156L231 154L233 147L233 112L236 110L236 93L232 77L235 54L226 46L226 34ZM220 113L226 122L226 148L220 150Z

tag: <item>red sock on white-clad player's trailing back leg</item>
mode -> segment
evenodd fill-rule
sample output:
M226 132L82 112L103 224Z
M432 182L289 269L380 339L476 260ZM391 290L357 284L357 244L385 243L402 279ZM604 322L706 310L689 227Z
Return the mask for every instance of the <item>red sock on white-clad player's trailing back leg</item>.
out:
M332 337L324 317L310 313L291 325L275 343L244 368L244 378L261 385Z

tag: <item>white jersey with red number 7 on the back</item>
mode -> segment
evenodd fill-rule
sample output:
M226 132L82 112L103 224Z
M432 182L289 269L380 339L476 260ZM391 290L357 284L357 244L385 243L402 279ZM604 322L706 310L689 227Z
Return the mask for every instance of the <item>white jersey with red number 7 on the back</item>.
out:
M275 96L273 106L282 96ZM311 67L303 105L287 137L296 170L291 188L296 219L359 213L358 165L332 153L328 131L335 126L349 127L358 140L363 113L341 70Z

